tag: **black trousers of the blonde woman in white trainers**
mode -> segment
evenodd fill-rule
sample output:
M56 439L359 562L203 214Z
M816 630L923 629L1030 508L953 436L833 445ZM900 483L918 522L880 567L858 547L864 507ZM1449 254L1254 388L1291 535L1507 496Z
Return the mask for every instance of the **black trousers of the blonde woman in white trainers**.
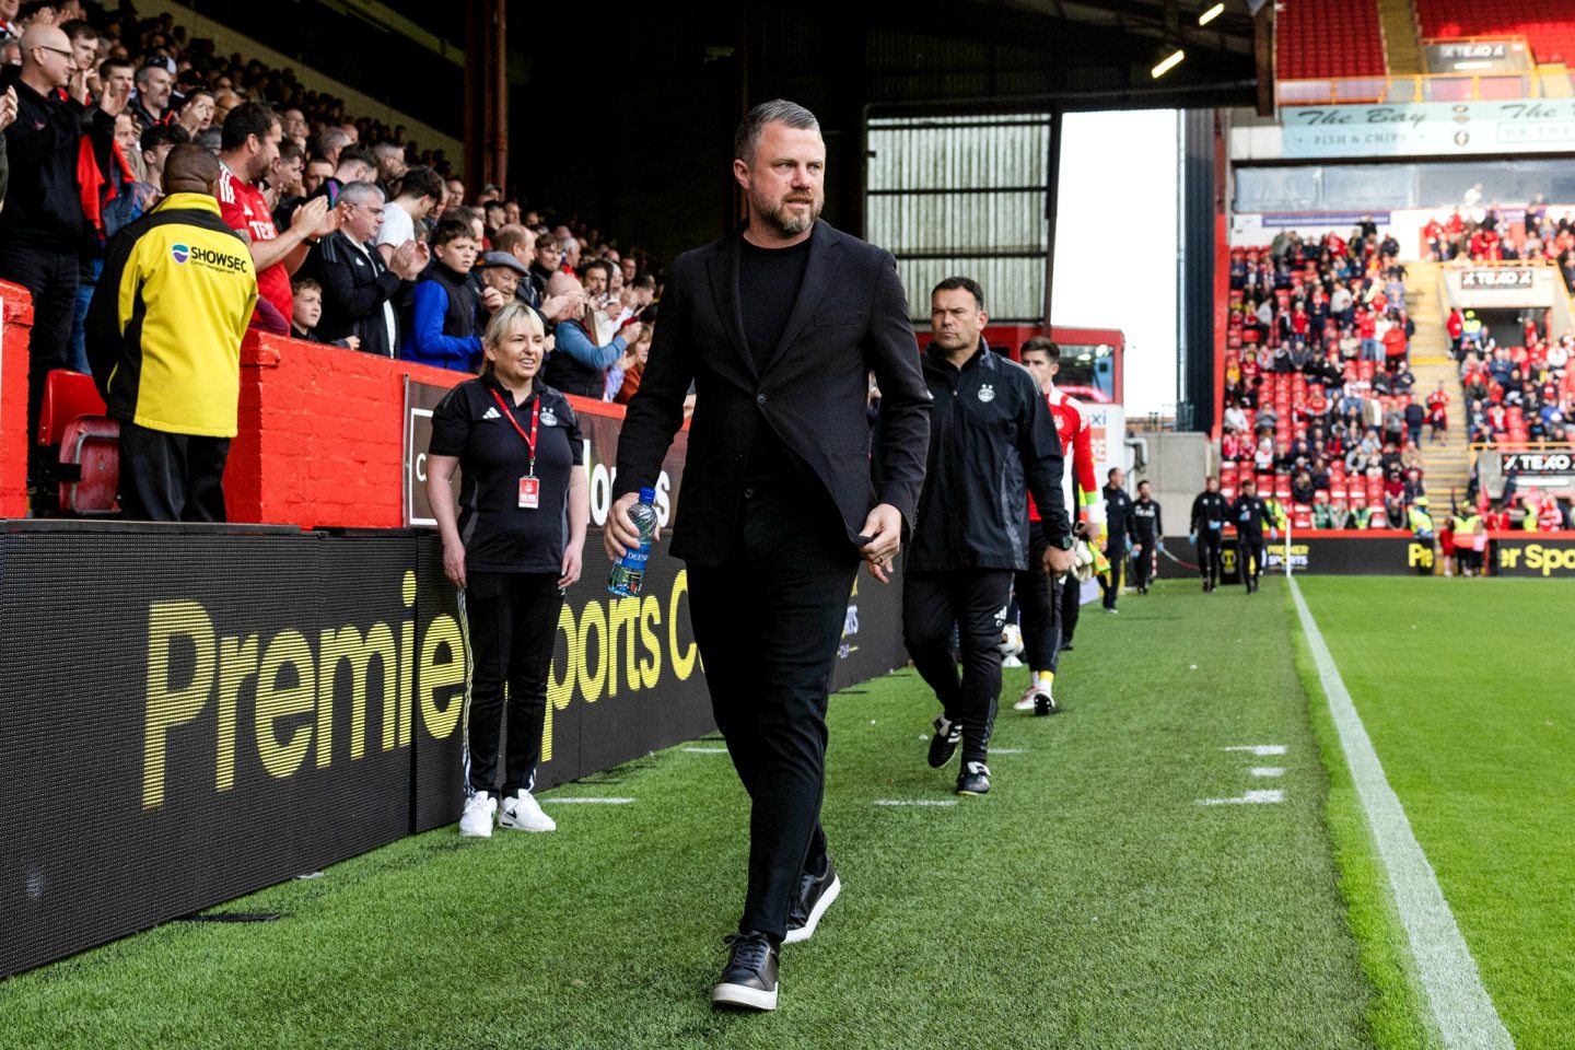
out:
M465 793L517 795L536 787L536 765L542 760L547 675L564 592L556 573L466 573L465 582L460 608L471 644ZM502 740L506 705L507 741ZM506 743L501 792L499 743Z

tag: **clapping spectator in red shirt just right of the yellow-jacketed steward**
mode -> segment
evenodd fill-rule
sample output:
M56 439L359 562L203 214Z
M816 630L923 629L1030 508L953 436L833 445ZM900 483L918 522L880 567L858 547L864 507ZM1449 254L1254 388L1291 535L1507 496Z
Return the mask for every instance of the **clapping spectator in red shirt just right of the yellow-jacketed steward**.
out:
M257 268L258 301L252 324L284 334L295 313L290 277L301 269L310 246L339 228L339 214L329 209L326 198L315 197L296 208L290 228L279 233L255 183L272 168L280 139L284 129L271 109L258 102L236 105L224 118L217 197L220 216L250 247Z

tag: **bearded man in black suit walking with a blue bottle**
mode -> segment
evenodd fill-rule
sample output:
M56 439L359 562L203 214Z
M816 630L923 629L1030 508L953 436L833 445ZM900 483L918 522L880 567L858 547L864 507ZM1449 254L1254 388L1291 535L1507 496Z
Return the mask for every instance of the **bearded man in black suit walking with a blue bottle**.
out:
M806 940L841 886L819 823L827 688L858 559L885 582L912 531L929 392L891 255L817 219L814 115L754 107L734 157L750 220L673 261L606 546L616 559L639 542L628 508L655 483L693 381L673 554L688 562L712 710L751 797L743 918L712 1001L775 1009L778 946Z

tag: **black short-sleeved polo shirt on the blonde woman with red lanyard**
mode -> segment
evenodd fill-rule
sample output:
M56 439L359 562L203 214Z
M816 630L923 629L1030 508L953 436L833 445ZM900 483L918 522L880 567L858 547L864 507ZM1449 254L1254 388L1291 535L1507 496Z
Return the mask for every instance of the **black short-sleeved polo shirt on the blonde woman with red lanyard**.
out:
M540 398L536 477L542 488L536 510L520 507L520 479L529 472L529 449L502 417L495 392L526 434ZM468 379L433 409L427 452L460 460L460 538L466 571L561 571L569 542L569 474L584 457L580 419L562 394L537 384L531 397L515 405L513 395L495 378Z

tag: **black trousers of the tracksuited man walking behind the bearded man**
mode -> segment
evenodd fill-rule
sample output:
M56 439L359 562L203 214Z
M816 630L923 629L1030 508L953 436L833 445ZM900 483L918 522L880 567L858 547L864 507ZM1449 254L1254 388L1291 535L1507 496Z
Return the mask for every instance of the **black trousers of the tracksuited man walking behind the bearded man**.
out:
M956 568L910 571L902 581L902 644L947 719L962 723L964 762L984 762L989 754L1011 576L1010 568ZM961 653L951 650L953 630Z

